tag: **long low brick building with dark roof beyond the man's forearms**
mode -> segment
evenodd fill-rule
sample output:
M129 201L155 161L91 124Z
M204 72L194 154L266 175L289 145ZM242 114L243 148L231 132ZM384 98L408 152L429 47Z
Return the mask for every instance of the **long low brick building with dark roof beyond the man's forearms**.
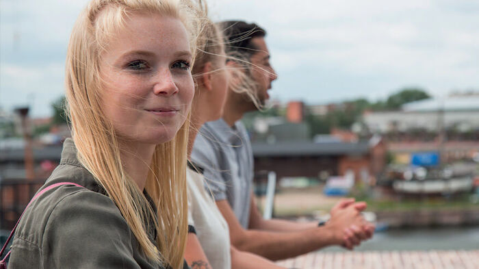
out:
M386 145L377 137L358 142L257 142L253 143L253 155L255 172L270 170L279 178L320 177L324 173L344 176L352 170L358 181L383 171Z

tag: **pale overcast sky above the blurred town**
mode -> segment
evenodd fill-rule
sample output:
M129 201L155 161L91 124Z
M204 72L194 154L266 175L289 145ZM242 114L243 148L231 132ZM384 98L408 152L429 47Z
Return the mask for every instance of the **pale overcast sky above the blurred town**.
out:
M49 116L64 91L71 28L86 0L0 0L0 107ZM479 90L479 1L210 0L213 20L268 31L281 101L383 99L417 86Z

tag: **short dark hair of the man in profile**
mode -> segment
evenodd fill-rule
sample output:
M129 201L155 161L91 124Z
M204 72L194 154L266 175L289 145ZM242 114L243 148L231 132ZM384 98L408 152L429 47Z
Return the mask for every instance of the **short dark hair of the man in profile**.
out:
M251 43L251 39L266 36L265 29L255 23L222 21L218 25L226 38L226 53L239 53L248 59L257 51L257 47Z

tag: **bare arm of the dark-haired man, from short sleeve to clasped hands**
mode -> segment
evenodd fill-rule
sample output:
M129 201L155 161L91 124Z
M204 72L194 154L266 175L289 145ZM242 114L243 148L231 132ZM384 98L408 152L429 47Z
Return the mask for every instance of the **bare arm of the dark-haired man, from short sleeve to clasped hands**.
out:
M362 222L359 212L348 207L324 227L287 233L246 230L239 224L228 201L216 201L216 205L228 223L233 246L239 251L248 251L272 260L296 257L324 246L343 244L344 230L347 228L345 223L356 223L360 227Z

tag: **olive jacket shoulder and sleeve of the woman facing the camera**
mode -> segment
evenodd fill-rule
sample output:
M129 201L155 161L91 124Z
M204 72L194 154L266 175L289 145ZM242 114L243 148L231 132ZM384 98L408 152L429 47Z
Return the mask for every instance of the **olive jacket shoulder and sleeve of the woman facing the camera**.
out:
M136 268L135 259L139 258L135 242L125 218L108 196L75 185L60 185L39 196L25 211L10 261L42 261L45 268L53 264L99 268L97 262L108 260Z

